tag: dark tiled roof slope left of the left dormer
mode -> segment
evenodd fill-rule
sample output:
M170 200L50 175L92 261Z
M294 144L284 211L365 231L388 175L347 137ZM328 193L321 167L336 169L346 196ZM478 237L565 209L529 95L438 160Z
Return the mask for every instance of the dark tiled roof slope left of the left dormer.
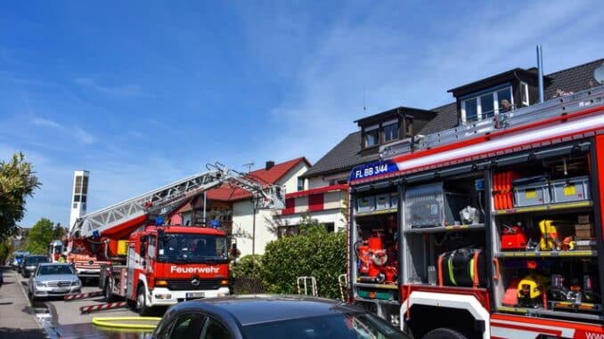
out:
M355 165L369 163L378 159L378 154L361 156L361 131L350 133L339 141L339 144L310 167L303 178L313 177L318 174L334 174L348 171Z

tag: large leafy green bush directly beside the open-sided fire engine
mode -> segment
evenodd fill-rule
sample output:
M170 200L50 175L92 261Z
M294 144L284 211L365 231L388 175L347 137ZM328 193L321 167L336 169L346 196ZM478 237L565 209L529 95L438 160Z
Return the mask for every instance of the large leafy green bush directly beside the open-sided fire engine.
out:
M297 294L298 277L316 279L318 293L339 298L338 276L346 272L346 233L311 228L266 246L262 277L270 293Z

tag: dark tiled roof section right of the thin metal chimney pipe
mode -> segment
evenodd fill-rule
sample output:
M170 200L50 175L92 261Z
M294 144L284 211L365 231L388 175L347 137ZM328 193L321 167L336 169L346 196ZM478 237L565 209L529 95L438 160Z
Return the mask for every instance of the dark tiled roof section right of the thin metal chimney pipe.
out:
M575 93L598 85L593 77L593 71L600 67L602 62L604 59L551 73L548 75L551 77L551 84L545 88L545 100L558 97L558 90L564 93Z

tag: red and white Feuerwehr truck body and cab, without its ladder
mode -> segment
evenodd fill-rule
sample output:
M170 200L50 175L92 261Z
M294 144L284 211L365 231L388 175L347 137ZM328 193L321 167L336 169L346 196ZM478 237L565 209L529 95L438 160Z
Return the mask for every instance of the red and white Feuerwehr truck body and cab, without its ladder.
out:
M229 295L229 246L224 230L144 226L131 236L126 265L103 266L107 299L121 296L142 315L152 307Z

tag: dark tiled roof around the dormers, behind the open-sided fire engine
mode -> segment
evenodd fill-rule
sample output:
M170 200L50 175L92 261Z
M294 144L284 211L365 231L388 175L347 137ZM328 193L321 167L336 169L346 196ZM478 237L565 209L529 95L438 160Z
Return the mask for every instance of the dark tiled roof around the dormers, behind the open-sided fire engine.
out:
M604 59L545 75L551 81L547 88L545 88L545 100L558 96L558 90L564 93L575 93L598 85L598 82L593 78L593 70L597 69L602 62L604 62ZM526 71L536 71L536 69L527 69ZM419 131L420 134L437 133L457 125L457 103L455 101L430 110L437 111L437 117L430 120L428 125L425 125ZM314 166L306 171L303 177L308 178L320 174L343 172L351 170L355 165L369 163L378 159L377 154L361 157L360 152L361 131L350 133L343 141L340 141L336 147L327 152Z

